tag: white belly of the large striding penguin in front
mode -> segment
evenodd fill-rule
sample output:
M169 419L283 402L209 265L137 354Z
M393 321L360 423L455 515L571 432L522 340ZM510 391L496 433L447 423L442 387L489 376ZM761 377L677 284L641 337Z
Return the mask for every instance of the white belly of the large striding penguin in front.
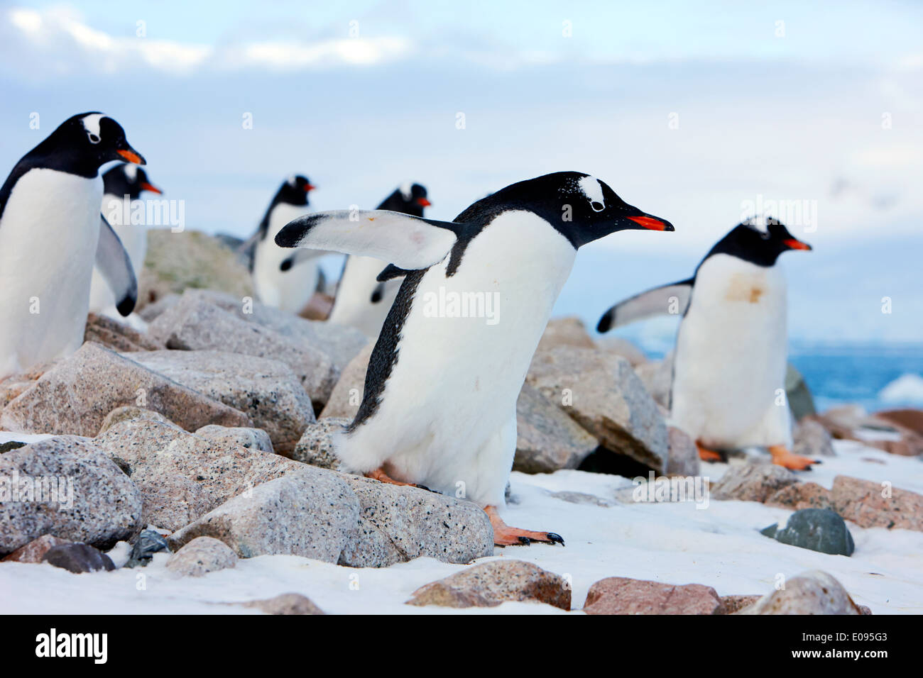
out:
M396 480L502 506L516 399L575 254L545 220L508 212L473 238L454 275L446 277L449 257L411 274L404 285L418 282L396 363L378 409L340 437L344 466L383 466ZM482 315L489 308L493 318L452 316L465 293L475 295L469 308L481 293Z

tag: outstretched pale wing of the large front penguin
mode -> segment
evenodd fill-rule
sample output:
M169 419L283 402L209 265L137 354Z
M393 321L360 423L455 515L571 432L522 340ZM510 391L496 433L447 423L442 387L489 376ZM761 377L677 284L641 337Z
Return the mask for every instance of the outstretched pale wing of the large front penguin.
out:
M373 256L398 268L419 270L444 259L463 229L462 223L385 209L338 209L290 221L276 235L276 244Z

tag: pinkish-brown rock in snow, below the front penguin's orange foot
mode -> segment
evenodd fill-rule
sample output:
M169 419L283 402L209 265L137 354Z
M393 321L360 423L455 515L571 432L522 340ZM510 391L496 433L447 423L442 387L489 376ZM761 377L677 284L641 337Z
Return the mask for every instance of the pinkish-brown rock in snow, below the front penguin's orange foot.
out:
M506 601L535 601L570 610L564 577L521 560L495 560L467 567L416 589L408 605L496 607Z

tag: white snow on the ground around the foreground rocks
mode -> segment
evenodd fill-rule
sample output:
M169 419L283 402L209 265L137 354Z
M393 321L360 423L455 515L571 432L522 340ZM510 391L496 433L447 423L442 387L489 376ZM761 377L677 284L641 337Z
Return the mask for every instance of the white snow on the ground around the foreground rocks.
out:
M838 474L923 494L923 462L857 443L837 441L838 456L805 480L830 487ZM724 464L703 465L712 480ZM567 546L533 544L497 549L493 558L530 561L569 576L573 607L579 611L593 582L604 577L636 577L671 584L698 583L720 595L763 594L779 575L794 577L825 570L840 580L873 613L923 613L923 533L905 529L861 529L850 524L856 541L851 557L786 546L757 531L791 514L754 502L615 503L628 479L558 471L552 475L513 473L510 525L557 531ZM594 494L612 506L573 504L553 492ZM111 555L126 559L127 545ZM0 564L0 613L257 613L221 603L303 593L328 613L545 613L564 614L550 605L508 602L497 608L453 610L405 605L418 587L461 570L431 558L388 568L355 569L290 555L241 560L234 569L201 578L174 578L158 554L138 569L73 575L52 565ZM490 560L485 558L484 560Z

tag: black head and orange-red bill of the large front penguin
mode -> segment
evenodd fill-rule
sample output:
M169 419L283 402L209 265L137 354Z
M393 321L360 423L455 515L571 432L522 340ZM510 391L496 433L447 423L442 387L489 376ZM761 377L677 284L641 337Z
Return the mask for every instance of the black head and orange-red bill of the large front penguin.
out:
M554 172L510 184L474 203L456 221L477 220L511 209L534 212L575 248L617 231L675 231L669 221L632 207L608 184L582 172Z

